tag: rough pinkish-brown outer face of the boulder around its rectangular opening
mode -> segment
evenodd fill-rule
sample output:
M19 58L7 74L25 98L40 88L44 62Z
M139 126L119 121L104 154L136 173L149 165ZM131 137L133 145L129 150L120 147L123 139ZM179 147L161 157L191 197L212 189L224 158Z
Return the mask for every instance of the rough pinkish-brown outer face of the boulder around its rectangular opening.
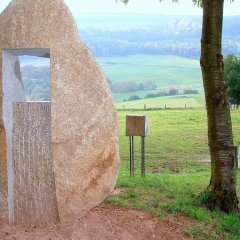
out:
M1 14L0 51L25 48L50 50L52 162L60 220L83 216L112 191L118 174L110 90L62 0L15 0ZM3 69L1 54L1 84ZM8 221L4 97L1 88L0 219Z

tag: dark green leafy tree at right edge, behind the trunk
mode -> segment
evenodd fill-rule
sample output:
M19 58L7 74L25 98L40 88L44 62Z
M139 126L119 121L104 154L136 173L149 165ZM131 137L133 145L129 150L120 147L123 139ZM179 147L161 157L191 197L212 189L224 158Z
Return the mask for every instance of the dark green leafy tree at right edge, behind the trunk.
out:
M224 59L224 74L228 84L230 102L240 104L240 59L233 54Z

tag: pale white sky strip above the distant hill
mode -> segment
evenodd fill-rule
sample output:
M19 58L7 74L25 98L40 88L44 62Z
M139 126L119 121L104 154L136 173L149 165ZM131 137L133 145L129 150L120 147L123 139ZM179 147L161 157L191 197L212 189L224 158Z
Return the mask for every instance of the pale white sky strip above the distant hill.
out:
M0 12L11 0L0 0ZM126 6L120 0L65 0L73 13L146 13L146 14L171 14L171 15L201 15L202 10L193 6L191 0L130 0ZM225 1L224 15L240 15L240 0L233 3Z

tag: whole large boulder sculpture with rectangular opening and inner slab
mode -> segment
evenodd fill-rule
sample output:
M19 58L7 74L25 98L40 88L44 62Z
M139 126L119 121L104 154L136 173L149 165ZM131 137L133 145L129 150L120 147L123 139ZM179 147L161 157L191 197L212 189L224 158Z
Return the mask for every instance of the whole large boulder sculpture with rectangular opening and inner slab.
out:
M119 170L109 87L62 0L15 0L0 16L0 220L83 216ZM25 101L18 56L51 59L51 101Z

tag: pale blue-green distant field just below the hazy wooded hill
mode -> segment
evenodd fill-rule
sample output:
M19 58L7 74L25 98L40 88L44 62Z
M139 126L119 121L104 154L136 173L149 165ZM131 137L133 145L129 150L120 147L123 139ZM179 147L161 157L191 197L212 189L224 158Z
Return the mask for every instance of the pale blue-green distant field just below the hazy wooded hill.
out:
M168 55L131 55L123 57L99 57L105 75L113 83L153 80L158 89L176 85L181 88L197 88L202 92L201 69L198 60ZM114 94L116 102L129 95L144 97L146 92Z

